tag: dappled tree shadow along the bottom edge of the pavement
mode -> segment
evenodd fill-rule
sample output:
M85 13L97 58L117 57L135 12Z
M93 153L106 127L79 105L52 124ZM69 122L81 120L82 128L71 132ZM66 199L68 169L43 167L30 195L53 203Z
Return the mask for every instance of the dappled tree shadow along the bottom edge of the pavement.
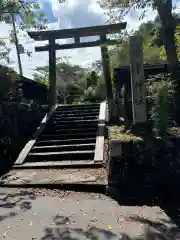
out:
M175 240L180 239L180 233L176 226L172 226L171 221L162 219L159 221L150 221L139 216L129 217L128 221L136 221L142 224L146 224L144 234L140 237L132 238L128 234L121 233L117 235L112 231L97 227L89 227L87 230L81 228L71 228L68 224L71 224L71 220L65 216L56 215L53 219L55 227L45 228L44 235L41 240ZM130 231L130 229L129 229Z

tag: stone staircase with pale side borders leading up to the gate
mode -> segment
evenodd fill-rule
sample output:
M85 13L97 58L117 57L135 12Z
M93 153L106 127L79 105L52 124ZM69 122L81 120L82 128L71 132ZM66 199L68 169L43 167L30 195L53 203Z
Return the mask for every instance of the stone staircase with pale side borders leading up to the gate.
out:
M14 167L102 165L103 149L100 148L103 148L104 136L98 136L99 127L105 127L100 116L105 120L105 107L102 106L106 105L58 106L41 123L41 133L26 144Z

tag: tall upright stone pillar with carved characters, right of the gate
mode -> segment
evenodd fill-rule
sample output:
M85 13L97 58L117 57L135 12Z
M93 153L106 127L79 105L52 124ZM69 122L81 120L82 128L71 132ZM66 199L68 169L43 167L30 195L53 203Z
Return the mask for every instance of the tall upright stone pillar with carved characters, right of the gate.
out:
M143 63L143 38L130 37L130 69L133 123L147 122L146 88Z

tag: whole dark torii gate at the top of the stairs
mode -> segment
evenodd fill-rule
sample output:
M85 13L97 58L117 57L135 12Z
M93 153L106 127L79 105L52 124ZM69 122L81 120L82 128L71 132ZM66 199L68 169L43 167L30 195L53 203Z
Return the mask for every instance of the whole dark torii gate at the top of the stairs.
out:
M45 46L35 47L35 51L49 51L49 110L56 105L56 50L85 48L85 47L101 47L101 57L103 65L103 74L106 86L112 86L111 74L109 68L108 45L119 44L118 40L107 39L107 34L119 33L120 30L126 28L127 23L117 23L101 26L92 26L85 28L73 28L52 31L28 32L28 35L36 41L48 40L49 44ZM100 36L97 41L81 42L81 37ZM56 44L56 39L74 38L71 44ZM112 88L111 88L112 89ZM108 99L113 99L111 89L106 89Z

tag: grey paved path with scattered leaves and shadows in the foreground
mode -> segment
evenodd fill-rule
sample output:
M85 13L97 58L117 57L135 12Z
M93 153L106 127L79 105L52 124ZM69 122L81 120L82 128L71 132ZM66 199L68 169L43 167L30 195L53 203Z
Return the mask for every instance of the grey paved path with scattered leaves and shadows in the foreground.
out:
M43 196L44 195L44 196ZM0 239L180 239L159 207L120 206L100 194L0 189Z

